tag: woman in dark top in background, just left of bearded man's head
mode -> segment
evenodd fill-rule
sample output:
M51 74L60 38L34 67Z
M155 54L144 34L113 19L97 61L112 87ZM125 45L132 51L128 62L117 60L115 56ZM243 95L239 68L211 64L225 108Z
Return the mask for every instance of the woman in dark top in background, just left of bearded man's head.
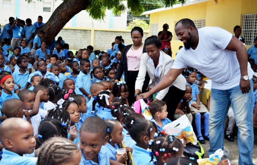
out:
M158 38L161 40L162 47L161 49L168 48L171 50L171 39L172 39L172 33L168 31L169 25L164 24L163 25L163 31L160 31L158 33Z

